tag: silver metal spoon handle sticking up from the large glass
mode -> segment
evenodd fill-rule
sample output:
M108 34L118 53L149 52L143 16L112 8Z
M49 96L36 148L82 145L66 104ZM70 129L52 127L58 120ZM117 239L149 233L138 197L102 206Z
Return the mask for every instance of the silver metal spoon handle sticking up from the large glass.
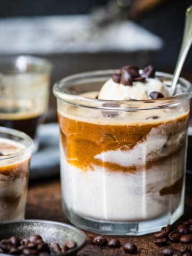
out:
M172 79L172 85L171 85L172 95L175 94L178 79L181 74L181 69L182 69L183 63L186 60L191 43L192 43L192 5L190 5L186 11L185 30L183 34L179 58L177 61L177 65L175 66L173 79Z

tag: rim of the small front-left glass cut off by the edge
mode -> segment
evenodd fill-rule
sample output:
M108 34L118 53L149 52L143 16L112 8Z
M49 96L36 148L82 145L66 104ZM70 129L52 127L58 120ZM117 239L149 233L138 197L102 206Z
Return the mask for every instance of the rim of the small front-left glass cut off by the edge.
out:
M27 151L30 151L30 150L32 152L34 142L29 137L29 135L27 135L25 132L21 132L19 130L15 130L15 129L0 126L0 138L2 138L1 133L7 134L7 135L13 135L15 137L19 137L19 138L27 141L27 145L25 145L26 146L25 148L20 149L19 151L15 152L15 153L0 156L0 161L5 160L5 159L10 159L10 158L13 158L13 157L21 156L21 155L25 154ZM6 138L6 139L9 139L9 138ZM20 143L20 142L18 142L18 143Z

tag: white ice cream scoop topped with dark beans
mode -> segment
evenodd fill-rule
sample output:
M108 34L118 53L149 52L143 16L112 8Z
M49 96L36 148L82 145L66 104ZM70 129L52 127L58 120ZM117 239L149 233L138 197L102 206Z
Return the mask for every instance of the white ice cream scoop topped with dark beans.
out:
M149 67L143 69L141 75L139 68L135 66L123 67L119 74L114 74L113 78L103 84L98 99L147 100L171 96L169 88L159 79L152 77L155 71L152 66ZM150 72L147 72L149 69Z

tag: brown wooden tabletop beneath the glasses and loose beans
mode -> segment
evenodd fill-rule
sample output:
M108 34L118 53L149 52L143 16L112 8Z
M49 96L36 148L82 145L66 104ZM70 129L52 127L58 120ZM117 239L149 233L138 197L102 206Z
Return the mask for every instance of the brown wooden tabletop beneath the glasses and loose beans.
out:
M186 217L192 217L192 174L187 175L186 179L186 199L185 199L185 214L181 219ZM39 180L30 182L27 206L26 206L26 219L44 219L54 220L61 222L68 222L65 214L61 210L61 190L59 178L50 180ZM110 249L108 246L94 246L90 243L91 237L95 234L85 231L87 235L87 243L81 249L79 253L89 254L89 256L123 256L129 255L123 251L123 247L118 249ZM107 238L115 238L117 236L106 236ZM158 247L154 244L153 234L145 236L118 236L121 244L131 241L138 247L136 255L149 256L157 255L162 247ZM178 248L181 244L170 244L175 248ZM192 244L191 244L192 245Z

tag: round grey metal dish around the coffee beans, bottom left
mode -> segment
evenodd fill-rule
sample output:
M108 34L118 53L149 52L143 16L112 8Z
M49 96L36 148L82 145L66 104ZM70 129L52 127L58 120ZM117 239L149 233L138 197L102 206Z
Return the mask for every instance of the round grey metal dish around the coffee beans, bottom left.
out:
M41 235L46 243L59 243L61 247L68 239L73 239L76 242L77 246L74 249L54 255L76 255L76 252L86 241L86 236L83 231L62 222L49 220L18 220L0 223L0 239L8 239L11 236L25 238L31 235ZM1 253L1 255L11 254Z

